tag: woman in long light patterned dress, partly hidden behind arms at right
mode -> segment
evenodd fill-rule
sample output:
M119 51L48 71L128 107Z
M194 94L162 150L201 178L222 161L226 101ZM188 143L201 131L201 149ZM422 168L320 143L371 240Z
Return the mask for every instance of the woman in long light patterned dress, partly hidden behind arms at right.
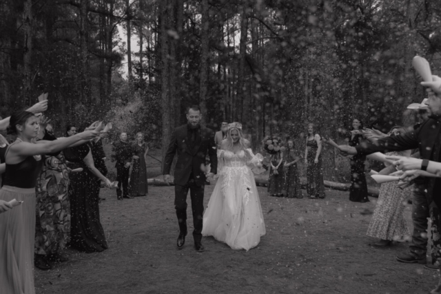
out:
M389 136L404 134L402 127L393 127ZM402 152L388 152L387 156L410 156L411 150ZM390 164L386 169L380 171L380 174L390 174L394 167ZM380 239L375 246L389 246L393 240L410 235L406 220L404 220L403 211L405 202L412 195L412 187L400 189L397 182L385 182L381 184L380 195L373 211L373 216L367 235Z

